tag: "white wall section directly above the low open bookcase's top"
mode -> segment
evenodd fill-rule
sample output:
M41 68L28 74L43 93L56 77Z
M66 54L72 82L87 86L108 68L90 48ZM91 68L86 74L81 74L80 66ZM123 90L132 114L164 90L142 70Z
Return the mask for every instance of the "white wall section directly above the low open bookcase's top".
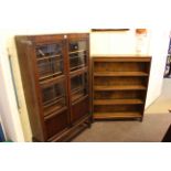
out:
M135 54L135 30L92 32L92 55L106 54Z

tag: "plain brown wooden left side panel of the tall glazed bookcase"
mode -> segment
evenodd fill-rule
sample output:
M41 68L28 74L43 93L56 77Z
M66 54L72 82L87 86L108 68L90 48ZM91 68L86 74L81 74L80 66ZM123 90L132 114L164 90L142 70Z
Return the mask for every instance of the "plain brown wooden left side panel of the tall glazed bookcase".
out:
M21 79L33 137L39 141L45 141L45 128L43 125L43 117L40 116L40 103L34 81L33 50L31 46L32 44L28 44L28 41L25 36L15 36Z

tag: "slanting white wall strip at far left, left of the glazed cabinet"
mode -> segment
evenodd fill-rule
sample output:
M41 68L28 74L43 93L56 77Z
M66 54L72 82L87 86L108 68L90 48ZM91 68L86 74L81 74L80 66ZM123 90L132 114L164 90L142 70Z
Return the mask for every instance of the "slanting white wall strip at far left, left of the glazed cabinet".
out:
M24 138L6 51L6 39L3 34L0 38L0 115L7 139L23 141Z

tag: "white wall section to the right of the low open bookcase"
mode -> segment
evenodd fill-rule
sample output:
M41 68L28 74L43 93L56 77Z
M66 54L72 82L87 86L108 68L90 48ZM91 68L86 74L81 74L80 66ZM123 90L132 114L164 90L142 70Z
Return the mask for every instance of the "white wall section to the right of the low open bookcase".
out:
M151 32L149 54L152 55L152 63L146 107L150 106L160 96L162 90L169 34L169 29L153 29Z

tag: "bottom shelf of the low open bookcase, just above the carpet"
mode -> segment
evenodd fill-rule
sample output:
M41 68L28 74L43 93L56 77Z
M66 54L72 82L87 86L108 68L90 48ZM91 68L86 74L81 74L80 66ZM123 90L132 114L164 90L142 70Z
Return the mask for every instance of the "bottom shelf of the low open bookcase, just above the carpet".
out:
M124 118L141 118L140 113L94 113L95 119L124 119Z

